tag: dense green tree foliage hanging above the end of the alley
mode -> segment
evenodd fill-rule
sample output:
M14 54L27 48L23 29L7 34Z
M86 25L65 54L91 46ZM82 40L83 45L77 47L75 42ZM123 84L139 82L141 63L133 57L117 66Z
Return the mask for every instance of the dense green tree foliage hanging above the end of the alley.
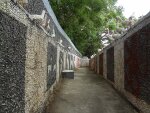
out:
M122 16L117 0L49 0L60 25L78 50L88 57L101 48L99 33L116 29L116 17Z

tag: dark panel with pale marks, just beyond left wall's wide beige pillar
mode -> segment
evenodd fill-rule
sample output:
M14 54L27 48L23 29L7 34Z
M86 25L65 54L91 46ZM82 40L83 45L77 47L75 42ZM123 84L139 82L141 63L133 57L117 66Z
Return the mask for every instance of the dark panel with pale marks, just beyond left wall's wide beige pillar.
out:
M48 43L47 49L47 89L49 89L56 80L57 48Z

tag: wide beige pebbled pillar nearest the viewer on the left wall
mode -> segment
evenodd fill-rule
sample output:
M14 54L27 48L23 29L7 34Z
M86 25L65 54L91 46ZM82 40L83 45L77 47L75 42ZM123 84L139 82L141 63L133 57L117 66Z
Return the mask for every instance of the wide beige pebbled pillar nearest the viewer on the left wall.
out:
M42 38L43 37L43 38ZM42 30L28 27L26 53L26 113L41 112L45 102L47 80L47 40Z

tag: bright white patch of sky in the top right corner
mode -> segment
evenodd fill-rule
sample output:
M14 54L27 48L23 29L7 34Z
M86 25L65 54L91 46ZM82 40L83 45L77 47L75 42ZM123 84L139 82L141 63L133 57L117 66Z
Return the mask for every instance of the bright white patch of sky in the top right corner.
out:
M118 0L117 6L123 6L125 17L144 16L150 11L150 0Z

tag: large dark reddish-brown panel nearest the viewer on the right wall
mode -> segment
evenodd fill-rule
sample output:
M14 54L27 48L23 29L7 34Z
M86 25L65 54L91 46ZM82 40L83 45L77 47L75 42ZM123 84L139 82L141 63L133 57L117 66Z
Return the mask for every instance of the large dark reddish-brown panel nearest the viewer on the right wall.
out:
M150 104L150 25L124 43L125 89Z

